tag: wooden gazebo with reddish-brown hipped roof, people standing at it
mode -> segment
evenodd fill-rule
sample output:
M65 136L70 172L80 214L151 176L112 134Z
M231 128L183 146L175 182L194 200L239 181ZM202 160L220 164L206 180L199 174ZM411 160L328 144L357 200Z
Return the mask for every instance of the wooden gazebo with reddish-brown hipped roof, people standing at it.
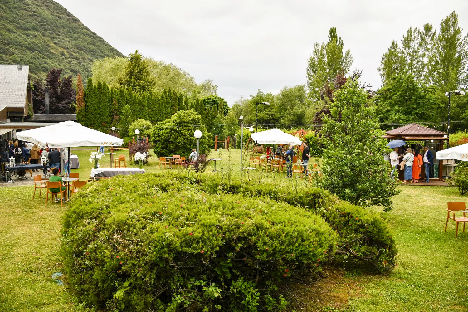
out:
M443 161L439 160L439 163L436 163L436 152L444 149L444 141L447 140L447 134L445 132L424 127L417 123L410 123L406 126L387 131L384 138L388 138L389 140L404 140L408 145L411 145L411 142L419 142L419 144L423 146L429 146L432 154L434 154L434 164L431 167L430 173L432 178L430 179L442 180ZM417 143L414 144L416 145ZM401 150L405 148L405 146L402 146ZM400 175L400 178L403 179L402 171L400 171ZM424 178L424 168L421 168L421 179Z

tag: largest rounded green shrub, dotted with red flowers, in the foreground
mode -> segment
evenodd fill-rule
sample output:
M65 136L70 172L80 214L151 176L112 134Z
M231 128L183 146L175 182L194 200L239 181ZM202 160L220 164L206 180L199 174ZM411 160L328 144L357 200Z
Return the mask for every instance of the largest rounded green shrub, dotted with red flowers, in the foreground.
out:
M312 212L190 187L161 192L160 180L116 177L90 183L74 197L62 253L85 305L277 311L286 304L282 284L313 278L333 254L336 233Z

